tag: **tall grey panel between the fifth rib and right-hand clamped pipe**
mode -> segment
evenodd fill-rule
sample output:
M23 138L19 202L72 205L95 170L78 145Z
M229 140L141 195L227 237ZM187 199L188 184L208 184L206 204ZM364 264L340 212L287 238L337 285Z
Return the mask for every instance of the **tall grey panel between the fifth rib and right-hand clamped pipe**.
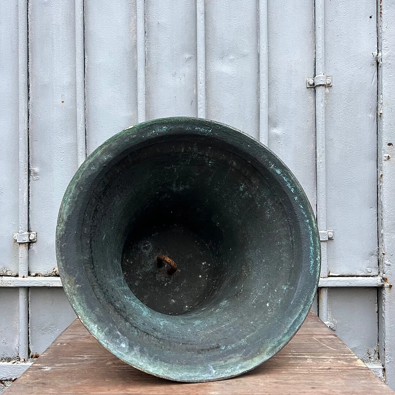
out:
M316 207L314 3L268 1L269 148L301 182Z

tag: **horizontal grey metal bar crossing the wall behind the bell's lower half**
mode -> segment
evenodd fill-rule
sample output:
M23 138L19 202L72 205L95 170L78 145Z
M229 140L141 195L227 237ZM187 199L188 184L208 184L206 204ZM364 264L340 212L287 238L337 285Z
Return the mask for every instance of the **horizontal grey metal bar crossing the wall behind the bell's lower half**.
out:
M0 287L61 287L59 276L0 276ZM383 287L382 276L333 276L320 278L318 287Z

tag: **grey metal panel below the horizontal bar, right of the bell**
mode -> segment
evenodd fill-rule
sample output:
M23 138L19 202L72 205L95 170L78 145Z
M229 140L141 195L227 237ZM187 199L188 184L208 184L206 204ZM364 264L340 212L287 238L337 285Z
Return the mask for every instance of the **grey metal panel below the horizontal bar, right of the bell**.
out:
M329 288L328 293L336 335L363 361L377 361L376 288Z

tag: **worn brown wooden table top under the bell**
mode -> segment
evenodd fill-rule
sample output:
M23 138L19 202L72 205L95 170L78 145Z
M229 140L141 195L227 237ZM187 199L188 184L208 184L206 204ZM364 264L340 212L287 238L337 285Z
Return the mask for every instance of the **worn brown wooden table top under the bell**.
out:
M75 320L18 378L11 394L394 394L312 312L293 339L256 369L185 384L134 369Z

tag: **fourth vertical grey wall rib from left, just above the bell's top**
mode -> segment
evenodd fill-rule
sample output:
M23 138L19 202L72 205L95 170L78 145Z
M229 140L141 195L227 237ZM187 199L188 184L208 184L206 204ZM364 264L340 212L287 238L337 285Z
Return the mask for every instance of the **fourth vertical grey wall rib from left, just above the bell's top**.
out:
M196 70L198 79L198 118L206 117L205 0L196 0Z

